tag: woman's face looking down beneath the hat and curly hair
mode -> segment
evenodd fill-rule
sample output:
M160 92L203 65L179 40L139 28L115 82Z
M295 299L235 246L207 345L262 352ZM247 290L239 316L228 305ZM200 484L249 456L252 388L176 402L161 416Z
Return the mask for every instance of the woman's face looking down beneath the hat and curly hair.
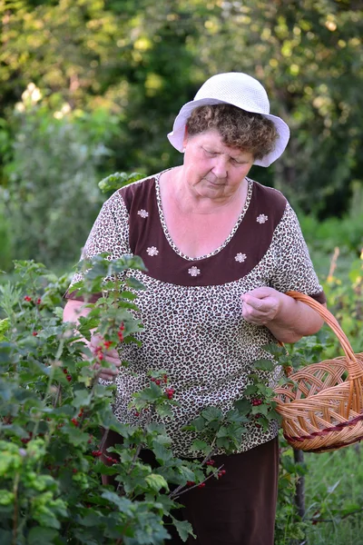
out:
M228 199L237 193L249 173L254 158L223 144L221 134L205 131L184 138L183 173L191 191L201 197Z

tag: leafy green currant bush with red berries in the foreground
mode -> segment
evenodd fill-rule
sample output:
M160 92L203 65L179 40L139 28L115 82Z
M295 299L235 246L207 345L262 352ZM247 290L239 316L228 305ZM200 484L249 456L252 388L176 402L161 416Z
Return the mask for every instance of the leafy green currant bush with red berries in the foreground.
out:
M146 423L123 425L113 416L114 385L97 380L94 364L104 365L103 352L91 353L83 339L95 328L103 351L136 342L142 324L132 310L142 285L132 279L120 283L118 274L142 262L97 256L83 265L84 281L74 288L86 299L105 288L104 278L111 280L101 299L85 303L90 312L77 328L62 322L67 276L57 278L39 263L16 262L16 282L1 286L0 541L161 544L170 524L186 540L192 529L178 514L182 495L223 478L213 454L221 447L236 449L247 413L255 414L259 426L276 417L272 391L258 381L254 385L251 375L250 401L237 402L227 414L215 407L201 411L189 430L196 436L191 448L203 451L202 459L172 456L162 419L172 416L176 401L163 370L151 371L149 386L132 401ZM105 456L102 430L123 438ZM142 449L153 452L155 467L142 461ZM116 489L101 485L104 475L115 478Z

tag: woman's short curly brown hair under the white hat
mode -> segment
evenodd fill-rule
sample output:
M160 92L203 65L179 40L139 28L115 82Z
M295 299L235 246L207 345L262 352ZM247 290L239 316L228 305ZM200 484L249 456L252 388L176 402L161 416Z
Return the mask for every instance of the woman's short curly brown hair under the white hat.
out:
M207 104L191 112L187 131L191 136L216 129L223 144L262 159L273 151L279 134L270 119L231 104Z

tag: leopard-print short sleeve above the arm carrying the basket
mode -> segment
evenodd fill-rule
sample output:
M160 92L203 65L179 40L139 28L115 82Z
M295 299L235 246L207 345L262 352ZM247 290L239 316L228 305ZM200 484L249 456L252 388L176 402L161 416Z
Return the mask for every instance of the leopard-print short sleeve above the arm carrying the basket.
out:
M273 234L272 248L276 265L270 287L279 292L294 290L305 293L318 302L326 302L308 246L301 233L299 220L289 203L286 204L285 212Z

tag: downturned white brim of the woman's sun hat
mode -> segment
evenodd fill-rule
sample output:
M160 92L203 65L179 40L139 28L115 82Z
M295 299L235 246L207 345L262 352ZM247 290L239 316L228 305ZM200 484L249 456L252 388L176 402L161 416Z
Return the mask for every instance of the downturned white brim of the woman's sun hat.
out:
M185 134L185 126L188 119L191 116L191 112L198 106L206 104L231 104L216 98L200 98L198 100L192 100L191 102L184 104L181 111L176 116L174 124L172 126L172 132L168 134L169 142L179 152L183 151L183 140ZM238 106L237 106L238 107ZM247 108L244 108L247 112L250 112ZM259 166L270 166L271 163L276 161L280 155L284 152L289 142L289 126L277 115L262 114L261 112L250 112L251 114L260 114L267 119L270 119L275 124L276 130L279 134L279 139L276 142L275 148L270 154L265 155L262 159L257 159L253 164Z

